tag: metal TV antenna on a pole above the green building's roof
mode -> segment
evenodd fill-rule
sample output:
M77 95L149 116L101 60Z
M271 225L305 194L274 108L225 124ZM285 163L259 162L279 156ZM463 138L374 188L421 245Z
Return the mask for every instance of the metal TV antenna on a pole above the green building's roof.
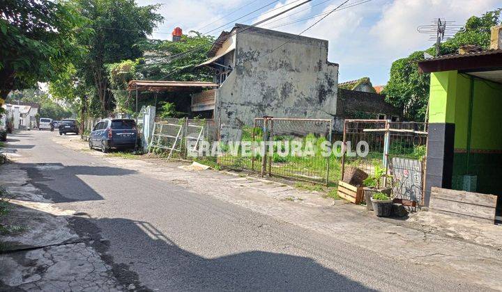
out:
M455 24L454 20L446 20L444 18L432 19L432 24L421 25L417 27L419 33L429 35L429 40L436 41L436 57L439 57L439 49L441 49L441 41L452 38L455 33L465 31L464 26Z

